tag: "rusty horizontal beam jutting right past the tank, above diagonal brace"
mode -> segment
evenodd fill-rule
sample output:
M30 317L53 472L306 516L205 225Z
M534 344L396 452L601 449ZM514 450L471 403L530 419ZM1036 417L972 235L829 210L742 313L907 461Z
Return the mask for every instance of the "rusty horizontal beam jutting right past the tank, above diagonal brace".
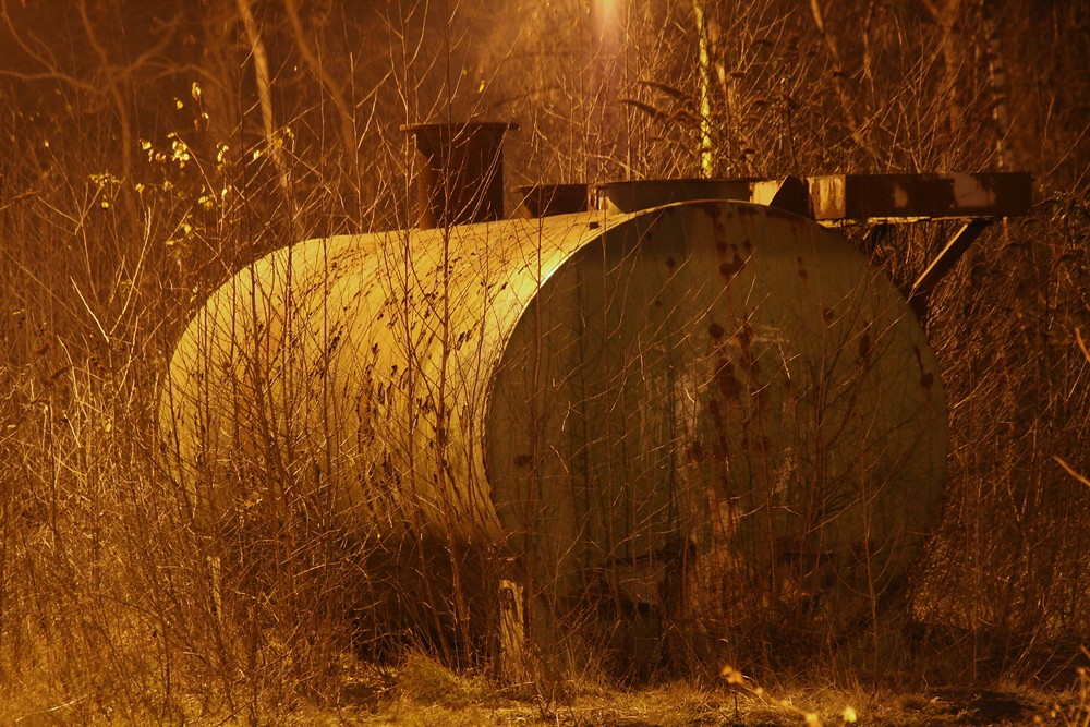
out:
M1022 172L834 174L808 183L819 220L1013 217L1032 204L1032 178Z

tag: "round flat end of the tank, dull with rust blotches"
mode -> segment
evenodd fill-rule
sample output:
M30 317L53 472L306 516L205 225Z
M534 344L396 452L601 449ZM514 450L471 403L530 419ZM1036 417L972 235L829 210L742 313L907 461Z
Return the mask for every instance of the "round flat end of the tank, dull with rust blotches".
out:
M749 204L658 208L588 240L532 310L484 440L535 582L616 571L623 592L633 564L693 553L689 603L730 620L765 579L792 584L788 607L859 615L868 573L904 573L937 512L945 399L904 298L840 235Z

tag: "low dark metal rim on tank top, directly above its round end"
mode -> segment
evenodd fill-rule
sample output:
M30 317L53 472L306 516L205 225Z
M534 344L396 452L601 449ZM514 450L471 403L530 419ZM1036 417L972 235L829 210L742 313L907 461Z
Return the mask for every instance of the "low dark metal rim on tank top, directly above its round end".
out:
M640 180L591 187L594 208L610 215L697 199L749 201L750 194L750 180L747 179Z

